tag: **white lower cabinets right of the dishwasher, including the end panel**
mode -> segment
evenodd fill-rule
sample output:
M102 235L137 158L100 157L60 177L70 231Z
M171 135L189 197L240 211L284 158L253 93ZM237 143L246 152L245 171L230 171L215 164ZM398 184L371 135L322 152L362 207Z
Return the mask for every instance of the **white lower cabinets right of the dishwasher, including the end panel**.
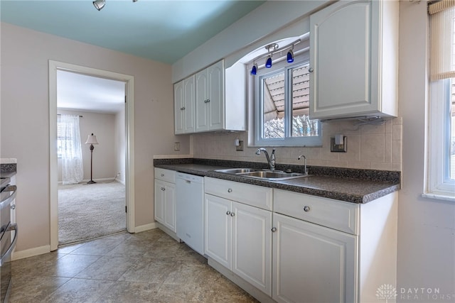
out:
M353 204L205 177L209 264L261 302L375 302L396 252L396 193Z

